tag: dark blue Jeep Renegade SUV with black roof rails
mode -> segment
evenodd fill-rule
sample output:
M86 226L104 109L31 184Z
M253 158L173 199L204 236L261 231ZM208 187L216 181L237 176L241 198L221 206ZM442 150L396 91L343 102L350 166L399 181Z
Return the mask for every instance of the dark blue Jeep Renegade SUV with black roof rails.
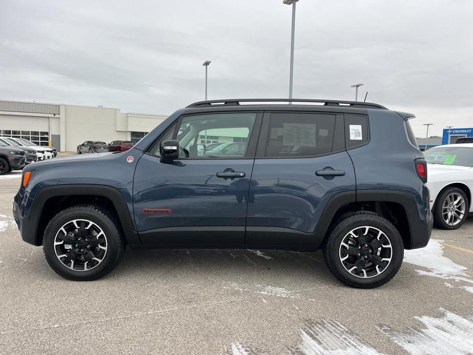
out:
M126 152L26 167L13 205L22 238L73 280L106 275L129 245L321 248L340 281L386 283L432 230L414 115L287 103L196 102Z

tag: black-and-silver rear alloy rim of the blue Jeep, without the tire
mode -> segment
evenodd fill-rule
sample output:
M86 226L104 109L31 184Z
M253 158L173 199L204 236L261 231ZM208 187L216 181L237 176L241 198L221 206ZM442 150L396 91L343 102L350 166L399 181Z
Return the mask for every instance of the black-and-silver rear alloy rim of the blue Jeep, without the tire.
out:
M389 237L371 226L356 227L342 239L339 249L344 269L359 278L371 278L384 272L392 259Z

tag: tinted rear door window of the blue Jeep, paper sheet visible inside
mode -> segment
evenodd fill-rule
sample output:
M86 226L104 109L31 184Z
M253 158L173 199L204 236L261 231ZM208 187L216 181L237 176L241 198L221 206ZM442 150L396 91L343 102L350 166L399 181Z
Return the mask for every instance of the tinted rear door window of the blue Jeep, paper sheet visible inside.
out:
M315 157L332 152L335 115L274 113L269 118L265 157Z

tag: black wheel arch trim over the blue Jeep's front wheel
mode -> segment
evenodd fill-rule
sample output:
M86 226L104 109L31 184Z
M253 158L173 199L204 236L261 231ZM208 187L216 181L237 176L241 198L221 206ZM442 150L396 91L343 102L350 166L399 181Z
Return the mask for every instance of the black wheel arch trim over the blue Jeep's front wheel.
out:
M51 218L67 207L83 203L104 207L119 221L127 243L141 245L124 196L115 187L106 185L60 185L39 190L34 197L28 224L25 223L27 220L22 223L23 227L29 227L28 230L21 231L22 237L25 241L40 246L44 230Z

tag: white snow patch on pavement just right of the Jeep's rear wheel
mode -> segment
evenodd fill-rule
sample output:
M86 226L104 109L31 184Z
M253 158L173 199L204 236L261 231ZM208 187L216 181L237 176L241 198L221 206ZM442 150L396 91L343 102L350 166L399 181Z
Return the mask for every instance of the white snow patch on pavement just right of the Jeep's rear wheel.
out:
M473 284L473 279L465 273L467 268L455 263L446 256L443 256L444 247L441 245L442 241L443 240L431 239L425 248L405 250L404 261L430 269L430 271L416 270L419 275L433 276L444 280L454 280L456 282L467 282ZM452 285L447 282L445 282L445 285L473 293L473 286Z

